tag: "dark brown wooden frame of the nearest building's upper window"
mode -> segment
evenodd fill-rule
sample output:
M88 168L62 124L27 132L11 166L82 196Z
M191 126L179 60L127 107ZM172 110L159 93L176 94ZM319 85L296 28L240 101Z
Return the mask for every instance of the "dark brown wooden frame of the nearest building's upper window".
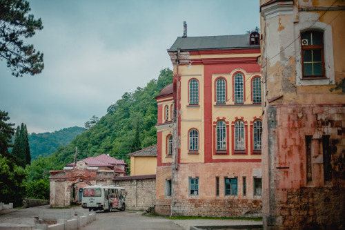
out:
M302 44L302 34L311 32L311 37L313 37L313 32L321 34L321 45L303 45ZM300 33L301 36L301 57L302 57L302 79L324 79L326 78L325 75L325 63L324 63L324 32L319 30L305 30ZM311 42L313 42L313 38L311 38ZM322 67L322 74L321 75L305 75L304 73L304 50L321 50L321 67ZM312 61L311 64L313 64L313 52L311 55Z

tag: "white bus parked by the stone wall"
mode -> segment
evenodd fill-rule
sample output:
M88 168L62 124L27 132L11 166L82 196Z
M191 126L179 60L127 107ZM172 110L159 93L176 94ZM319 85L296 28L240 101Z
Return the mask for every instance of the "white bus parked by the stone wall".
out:
M116 186L94 185L83 189L81 207L89 211L112 211L112 209L126 210L126 191Z

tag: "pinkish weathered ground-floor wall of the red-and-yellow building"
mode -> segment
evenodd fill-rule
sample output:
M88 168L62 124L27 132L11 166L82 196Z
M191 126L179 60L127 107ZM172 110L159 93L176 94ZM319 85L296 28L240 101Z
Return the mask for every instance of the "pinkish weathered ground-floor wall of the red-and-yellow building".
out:
M165 181L171 180L171 166L157 168L156 213L188 216L233 217L262 215L262 197L254 195L254 179L261 178L261 163L231 162L180 164L172 180L172 195L165 195ZM199 178L199 194L189 195L189 177ZM219 178L219 195L216 194ZM225 178L237 178L237 195L225 195ZM244 180L246 178L246 195ZM159 193L158 193L159 192Z

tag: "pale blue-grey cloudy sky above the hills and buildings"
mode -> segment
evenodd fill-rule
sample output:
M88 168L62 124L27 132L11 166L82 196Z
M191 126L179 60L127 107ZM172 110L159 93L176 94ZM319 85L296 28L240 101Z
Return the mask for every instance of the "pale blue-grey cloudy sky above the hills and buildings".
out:
M28 133L83 127L126 92L144 88L183 35L243 35L259 26L259 0L30 0L43 30L26 44L44 54L39 75L14 77L0 61L0 110Z

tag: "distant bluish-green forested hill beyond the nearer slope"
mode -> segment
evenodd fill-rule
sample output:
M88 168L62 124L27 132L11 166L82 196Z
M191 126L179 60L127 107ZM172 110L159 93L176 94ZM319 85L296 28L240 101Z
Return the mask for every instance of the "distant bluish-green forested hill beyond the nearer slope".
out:
M39 155L51 155L59 146L65 146L83 133L85 128L70 127L63 128L52 133L32 133L28 135L31 159L36 159Z

